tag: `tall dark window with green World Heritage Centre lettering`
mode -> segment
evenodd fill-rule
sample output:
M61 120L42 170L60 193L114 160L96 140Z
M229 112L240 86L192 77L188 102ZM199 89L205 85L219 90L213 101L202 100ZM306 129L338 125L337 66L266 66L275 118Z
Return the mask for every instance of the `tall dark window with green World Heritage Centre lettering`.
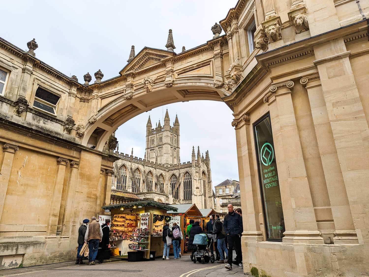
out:
M267 239L282 241L284 219L269 114L254 124Z

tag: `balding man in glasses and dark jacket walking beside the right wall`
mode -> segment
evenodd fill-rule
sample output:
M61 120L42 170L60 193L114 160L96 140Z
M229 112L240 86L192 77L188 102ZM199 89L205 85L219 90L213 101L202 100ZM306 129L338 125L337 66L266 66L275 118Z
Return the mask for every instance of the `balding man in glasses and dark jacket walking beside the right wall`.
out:
M232 270L232 252L233 246L237 252L237 263L240 269L244 268L242 265L242 251L241 251L241 234L243 230L241 216L233 211L233 205L228 205L228 214L224 216L224 231L228 238L228 264L226 269Z

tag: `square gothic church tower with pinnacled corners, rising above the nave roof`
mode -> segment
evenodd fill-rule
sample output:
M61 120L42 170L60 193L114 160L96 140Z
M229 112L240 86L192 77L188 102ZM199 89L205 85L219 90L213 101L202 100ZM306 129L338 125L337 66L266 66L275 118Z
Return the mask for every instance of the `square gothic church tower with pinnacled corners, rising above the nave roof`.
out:
M176 116L173 127L170 126L168 109L164 117L164 126L160 120L155 128L152 128L151 119L146 124L146 160L170 166L180 163L179 156L179 121Z

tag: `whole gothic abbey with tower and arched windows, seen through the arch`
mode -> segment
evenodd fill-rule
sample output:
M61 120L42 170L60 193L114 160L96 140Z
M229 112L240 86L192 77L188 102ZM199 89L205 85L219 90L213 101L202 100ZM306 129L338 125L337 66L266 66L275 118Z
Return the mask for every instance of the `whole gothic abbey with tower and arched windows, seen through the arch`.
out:
M192 161L180 163L179 120L170 126L168 110L164 125L152 128L150 116L146 124L144 159L115 152L112 191L127 191L142 199L167 204L196 203L200 209L213 208L210 156L192 148ZM116 201L111 199L112 204Z

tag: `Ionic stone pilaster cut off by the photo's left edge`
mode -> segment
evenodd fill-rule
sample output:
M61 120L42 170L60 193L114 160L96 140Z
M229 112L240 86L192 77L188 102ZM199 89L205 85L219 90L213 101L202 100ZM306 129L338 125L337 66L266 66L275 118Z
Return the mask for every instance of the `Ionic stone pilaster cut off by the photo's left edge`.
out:
M15 151L19 147L13 144L5 143L3 145L3 155L0 162L0 220L3 214L5 196L8 189L11 167L13 165L13 158Z

